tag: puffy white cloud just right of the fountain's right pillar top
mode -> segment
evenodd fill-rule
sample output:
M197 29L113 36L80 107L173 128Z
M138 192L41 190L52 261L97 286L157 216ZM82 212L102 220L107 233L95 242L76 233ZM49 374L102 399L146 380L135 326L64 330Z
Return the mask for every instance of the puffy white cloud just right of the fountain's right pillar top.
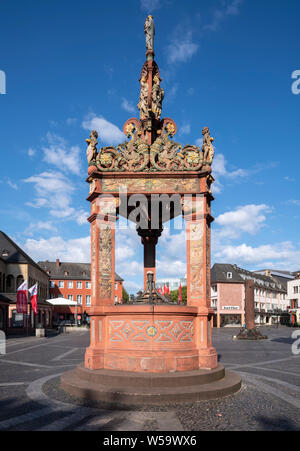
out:
M266 214L271 211L268 205L245 205L219 215L216 224L218 238L237 238L241 233L254 235L266 221Z

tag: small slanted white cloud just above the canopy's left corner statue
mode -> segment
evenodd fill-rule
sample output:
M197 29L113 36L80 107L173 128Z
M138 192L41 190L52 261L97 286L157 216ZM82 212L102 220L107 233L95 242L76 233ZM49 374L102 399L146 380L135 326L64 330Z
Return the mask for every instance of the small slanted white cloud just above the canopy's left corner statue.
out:
M89 131L97 130L99 140L106 144L120 144L125 139L124 133L116 125L95 114L87 116L82 122L82 127Z

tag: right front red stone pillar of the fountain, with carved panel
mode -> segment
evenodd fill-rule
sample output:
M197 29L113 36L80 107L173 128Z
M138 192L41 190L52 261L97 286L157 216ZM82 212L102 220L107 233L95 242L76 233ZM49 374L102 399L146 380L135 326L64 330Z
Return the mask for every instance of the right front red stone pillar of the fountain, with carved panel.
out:
M216 368L212 346L213 309L210 305L210 216L206 196L183 201L187 242L187 305L198 307L195 324L200 368Z

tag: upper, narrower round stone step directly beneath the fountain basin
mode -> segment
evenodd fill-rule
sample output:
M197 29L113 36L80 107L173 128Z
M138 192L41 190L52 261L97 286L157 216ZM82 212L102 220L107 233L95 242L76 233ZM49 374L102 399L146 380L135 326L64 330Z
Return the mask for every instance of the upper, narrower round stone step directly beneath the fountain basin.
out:
M172 373L136 373L115 370L89 370L80 365L76 369L80 379L110 387L159 388L203 385L225 376L223 365L213 370L195 370Z

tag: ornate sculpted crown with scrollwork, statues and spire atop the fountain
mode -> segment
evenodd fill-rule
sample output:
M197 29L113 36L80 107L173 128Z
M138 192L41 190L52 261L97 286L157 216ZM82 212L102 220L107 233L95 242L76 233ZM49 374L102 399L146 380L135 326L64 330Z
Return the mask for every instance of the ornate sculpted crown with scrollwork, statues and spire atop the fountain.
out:
M148 16L145 22L146 61L140 77L138 108L140 119L128 119L123 127L127 140L118 146L97 150L98 133L93 130L87 139L88 173L94 172L189 172L208 171L214 157L213 138L208 127L202 130L201 148L182 146L172 138L177 132L170 118L161 119L165 92L157 63L154 61L154 22ZM213 178L210 177L210 184Z

